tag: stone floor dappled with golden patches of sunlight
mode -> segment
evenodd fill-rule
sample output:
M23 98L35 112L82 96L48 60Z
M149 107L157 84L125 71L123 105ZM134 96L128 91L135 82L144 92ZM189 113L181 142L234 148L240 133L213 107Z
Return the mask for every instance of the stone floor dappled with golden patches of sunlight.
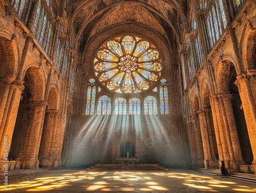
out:
M8 179L4 192L256 192L256 183L220 178L195 170L49 170Z

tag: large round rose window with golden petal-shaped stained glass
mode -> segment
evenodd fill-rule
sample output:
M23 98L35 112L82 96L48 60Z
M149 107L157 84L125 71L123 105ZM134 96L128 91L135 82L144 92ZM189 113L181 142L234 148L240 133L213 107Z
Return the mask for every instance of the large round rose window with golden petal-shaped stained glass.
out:
M160 78L162 60L149 41L125 35L106 41L94 58L94 73L109 90L136 93L151 88Z

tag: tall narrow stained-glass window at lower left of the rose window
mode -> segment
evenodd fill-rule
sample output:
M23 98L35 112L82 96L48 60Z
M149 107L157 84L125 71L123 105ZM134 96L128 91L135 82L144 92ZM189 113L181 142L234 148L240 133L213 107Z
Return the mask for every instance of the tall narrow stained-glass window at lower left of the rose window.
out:
M96 83L95 83L95 79L91 78L87 84L86 115L94 114L95 97L96 97Z

